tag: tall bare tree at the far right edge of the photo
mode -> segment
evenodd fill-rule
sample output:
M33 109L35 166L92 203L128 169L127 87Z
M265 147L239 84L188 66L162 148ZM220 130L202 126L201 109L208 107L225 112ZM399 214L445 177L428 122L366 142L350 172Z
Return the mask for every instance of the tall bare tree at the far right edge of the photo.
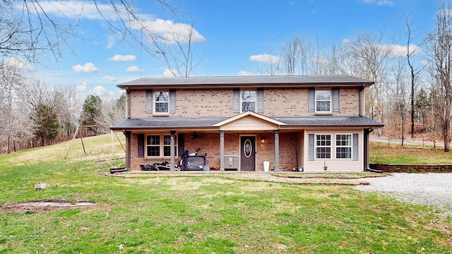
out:
M434 30L428 35L431 60L432 94L437 121L444 138L444 152L449 151L451 141L452 106L452 16L451 4L444 2L436 12Z

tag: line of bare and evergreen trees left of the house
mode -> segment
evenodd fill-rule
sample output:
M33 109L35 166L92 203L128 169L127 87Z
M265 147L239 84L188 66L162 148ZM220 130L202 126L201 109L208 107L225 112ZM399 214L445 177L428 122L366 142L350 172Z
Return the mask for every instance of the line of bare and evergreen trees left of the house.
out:
M107 133L126 116L124 94L83 100L76 87L50 87L25 71L11 62L0 66L0 154L68 140L79 126L90 126L84 136Z

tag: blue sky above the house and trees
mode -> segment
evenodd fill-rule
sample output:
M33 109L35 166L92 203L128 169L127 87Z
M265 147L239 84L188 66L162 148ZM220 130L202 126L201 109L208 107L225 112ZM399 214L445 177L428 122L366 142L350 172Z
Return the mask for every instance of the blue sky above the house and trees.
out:
M143 20L160 32L177 25L194 24L199 42L196 59L201 62L194 75L258 75L256 59L296 36L328 51L333 44L350 40L362 32L384 31L384 44L406 44L403 13L412 13L420 44L432 30L439 0L168 0L179 6L179 14L155 6L153 1L134 1ZM44 1L43 1L44 2ZM45 1L48 3L48 1ZM116 87L141 77L165 75L165 64L141 50L121 42L107 29L95 11L83 2L78 39L70 41L57 67L35 66L35 75L49 85L78 87L83 94L119 97ZM45 6L45 5L44 5ZM59 13L47 11L58 18ZM82 6L68 1L66 6ZM79 7L73 7L79 8ZM112 18L113 20L114 18ZM273 52L273 54L277 54ZM254 59L254 61L253 61Z

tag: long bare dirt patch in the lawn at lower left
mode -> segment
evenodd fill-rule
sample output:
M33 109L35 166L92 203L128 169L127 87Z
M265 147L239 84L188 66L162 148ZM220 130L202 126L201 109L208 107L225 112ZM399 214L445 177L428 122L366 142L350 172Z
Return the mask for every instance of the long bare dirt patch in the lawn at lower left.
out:
M95 202L77 201L69 202L66 200L40 200L31 202L22 202L12 205L5 205L6 210L10 212L49 212L55 210L67 210L78 207L97 205Z

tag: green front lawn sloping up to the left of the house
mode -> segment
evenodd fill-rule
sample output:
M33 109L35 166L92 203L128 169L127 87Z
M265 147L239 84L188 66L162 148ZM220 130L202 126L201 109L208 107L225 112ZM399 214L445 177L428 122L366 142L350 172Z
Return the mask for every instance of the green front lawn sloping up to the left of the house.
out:
M124 162L95 161L124 152L115 144L109 155L109 136L99 139L86 140L89 155L74 143L68 159L69 143L0 157L0 253L452 253L452 221L430 207L349 186L107 177ZM47 188L35 191L38 181ZM6 209L63 199L97 205Z

